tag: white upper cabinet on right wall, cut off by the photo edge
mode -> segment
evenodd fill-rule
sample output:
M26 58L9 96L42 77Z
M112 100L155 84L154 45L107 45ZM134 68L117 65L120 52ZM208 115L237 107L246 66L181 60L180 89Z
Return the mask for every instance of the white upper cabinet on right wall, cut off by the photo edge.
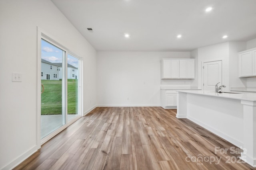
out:
M256 48L238 53L239 77L256 76Z

